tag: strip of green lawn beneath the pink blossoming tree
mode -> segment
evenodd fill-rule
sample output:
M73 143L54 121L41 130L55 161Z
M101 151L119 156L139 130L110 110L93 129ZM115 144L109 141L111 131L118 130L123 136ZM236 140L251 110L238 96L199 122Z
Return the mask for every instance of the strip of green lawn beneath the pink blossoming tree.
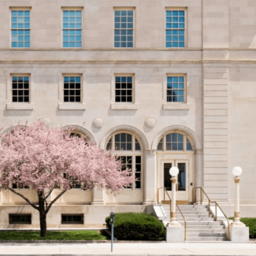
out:
M106 240L98 230L48 231L47 237L40 237L40 232L1 231L0 240Z

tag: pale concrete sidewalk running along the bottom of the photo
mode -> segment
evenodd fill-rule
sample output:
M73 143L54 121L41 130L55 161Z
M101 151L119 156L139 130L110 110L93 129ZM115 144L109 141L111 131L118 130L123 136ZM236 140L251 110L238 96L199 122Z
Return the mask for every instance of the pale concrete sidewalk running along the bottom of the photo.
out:
M256 243L0 244L0 255L256 255Z

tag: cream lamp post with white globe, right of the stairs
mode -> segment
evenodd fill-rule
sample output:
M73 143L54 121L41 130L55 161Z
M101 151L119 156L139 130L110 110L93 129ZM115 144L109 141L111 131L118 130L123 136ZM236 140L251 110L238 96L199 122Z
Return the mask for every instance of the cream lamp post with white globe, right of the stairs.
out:
M234 211L234 221L232 222L232 226L245 226L240 221L240 209L239 209L239 181L240 181L240 175L243 173L243 170L241 167L236 166L233 170L232 173L234 175L234 180L235 180L235 211Z

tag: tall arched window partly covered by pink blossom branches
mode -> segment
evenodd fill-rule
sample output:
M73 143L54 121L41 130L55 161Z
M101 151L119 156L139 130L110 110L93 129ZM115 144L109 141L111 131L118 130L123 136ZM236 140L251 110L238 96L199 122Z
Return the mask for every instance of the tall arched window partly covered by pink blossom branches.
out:
M106 204L142 204L143 203L143 144L132 132L123 130L114 132L106 143L106 151L113 149L121 159L124 169L131 169L131 175L137 179L125 187L119 195L106 191Z

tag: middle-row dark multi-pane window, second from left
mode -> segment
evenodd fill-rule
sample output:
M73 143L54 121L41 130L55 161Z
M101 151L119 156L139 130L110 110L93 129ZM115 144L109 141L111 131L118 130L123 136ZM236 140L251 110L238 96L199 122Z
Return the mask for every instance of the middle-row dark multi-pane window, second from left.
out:
M64 76L64 102L81 102L80 76Z

